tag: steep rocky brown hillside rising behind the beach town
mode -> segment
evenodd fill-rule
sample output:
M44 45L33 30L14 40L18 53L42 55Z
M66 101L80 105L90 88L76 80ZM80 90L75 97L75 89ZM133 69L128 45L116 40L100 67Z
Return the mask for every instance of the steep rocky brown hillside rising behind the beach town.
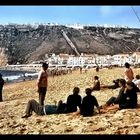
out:
M74 29L48 25L0 25L0 49L5 63L30 63L45 59L46 54L75 54L62 30L79 53L116 54L133 52L140 46L140 29L84 27ZM3 65L5 64L2 63Z

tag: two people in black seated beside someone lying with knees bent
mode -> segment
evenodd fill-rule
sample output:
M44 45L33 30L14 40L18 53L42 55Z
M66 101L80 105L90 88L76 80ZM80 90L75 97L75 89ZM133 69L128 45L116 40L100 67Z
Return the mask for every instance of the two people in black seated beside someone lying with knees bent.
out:
M94 106L99 109L99 104L95 96L91 95L91 88L86 88L86 96L83 98L79 95L79 87L74 87L73 94L67 97L66 103L62 100L58 102L58 105L45 105L41 106L36 100L32 99L28 102L26 108L26 114L22 118L28 118L34 111L38 115L60 114L60 113L72 113L80 111L83 116L92 116L94 114ZM100 111L100 110L99 110Z

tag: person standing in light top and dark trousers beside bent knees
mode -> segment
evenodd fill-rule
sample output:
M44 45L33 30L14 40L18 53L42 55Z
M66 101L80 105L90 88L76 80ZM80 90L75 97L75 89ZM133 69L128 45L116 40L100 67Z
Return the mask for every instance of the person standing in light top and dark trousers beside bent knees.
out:
M47 92L47 86L48 86L48 64L43 63L42 64L42 70L38 74L37 78L37 87L38 87L38 93L39 93L39 104L41 106L44 105L44 100Z

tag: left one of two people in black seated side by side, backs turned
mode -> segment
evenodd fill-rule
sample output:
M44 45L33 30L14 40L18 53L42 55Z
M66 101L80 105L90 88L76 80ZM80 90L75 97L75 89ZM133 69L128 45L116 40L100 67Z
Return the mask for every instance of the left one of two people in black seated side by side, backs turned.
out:
M66 103L63 103L62 100L59 101L60 106L58 109L61 110L61 113L76 112L77 107L80 108L82 98L79 95L79 92L80 92L79 87L74 87L73 94L71 94L67 97Z

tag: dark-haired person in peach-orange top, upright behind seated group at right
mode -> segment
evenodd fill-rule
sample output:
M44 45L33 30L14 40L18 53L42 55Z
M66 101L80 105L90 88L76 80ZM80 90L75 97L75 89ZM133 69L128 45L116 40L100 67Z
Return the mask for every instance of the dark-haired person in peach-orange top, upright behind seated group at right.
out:
M134 79L133 70L130 68L129 63L125 63L124 79L126 81L132 81Z

